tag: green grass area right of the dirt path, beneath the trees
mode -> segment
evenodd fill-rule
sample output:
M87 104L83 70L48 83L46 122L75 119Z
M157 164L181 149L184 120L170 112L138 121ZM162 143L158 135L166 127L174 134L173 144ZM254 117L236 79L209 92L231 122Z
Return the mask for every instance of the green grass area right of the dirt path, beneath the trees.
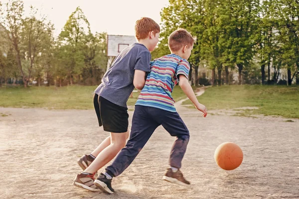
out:
M263 114L287 118L299 118L299 87L287 86L221 86L209 88L197 97L200 103L211 109L232 109L255 106L258 109L245 109L245 115ZM183 104L191 104L186 100Z

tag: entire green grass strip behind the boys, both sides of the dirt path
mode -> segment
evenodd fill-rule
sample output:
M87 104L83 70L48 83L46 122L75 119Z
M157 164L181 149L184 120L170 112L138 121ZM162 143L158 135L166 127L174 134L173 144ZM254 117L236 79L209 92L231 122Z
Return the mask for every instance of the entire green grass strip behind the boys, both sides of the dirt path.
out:
M45 107L49 109L93 109L93 92L96 86L1 88L2 107ZM196 88L193 87L193 90ZM139 92L133 93L128 105L134 105ZM180 87L172 93L175 101L186 98ZM239 116L264 114L299 118L299 87L287 86L221 86L209 88L198 100L211 109L244 109ZM191 104L186 100L183 104ZM1 115L2 116L2 115Z

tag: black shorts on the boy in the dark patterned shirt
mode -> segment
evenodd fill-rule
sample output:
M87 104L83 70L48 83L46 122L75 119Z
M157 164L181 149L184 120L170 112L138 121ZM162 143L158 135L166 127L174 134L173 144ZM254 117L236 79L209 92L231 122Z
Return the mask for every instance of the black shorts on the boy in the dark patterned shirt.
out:
M112 133L128 131L128 108L112 103L97 94L94 95L94 106L99 125L103 126L104 131Z

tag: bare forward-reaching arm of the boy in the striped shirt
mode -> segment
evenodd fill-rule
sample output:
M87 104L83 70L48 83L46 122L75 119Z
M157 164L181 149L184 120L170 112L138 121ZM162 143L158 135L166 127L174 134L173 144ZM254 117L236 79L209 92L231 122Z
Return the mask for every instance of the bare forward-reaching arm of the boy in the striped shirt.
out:
M192 103L196 106L196 108L198 110L200 110L201 112L203 112L202 116L206 117L208 114L208 111L206 109L206 107L199 103L193 90L192 87L189 84L188 79L186 78L186 76L184 75L179 75L179 86L181 87L181 89L183 90L183 92L186 94L186 96L192 101Z

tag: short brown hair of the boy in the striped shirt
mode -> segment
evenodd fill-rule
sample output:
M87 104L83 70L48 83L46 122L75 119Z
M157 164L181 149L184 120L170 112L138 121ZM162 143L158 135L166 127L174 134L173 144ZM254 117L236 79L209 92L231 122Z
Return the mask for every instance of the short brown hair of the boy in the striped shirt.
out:
M173 31L168 38L168 46L170 51L178 51L181 47L186 45L193 45L195 39L185 29L179 28Z

